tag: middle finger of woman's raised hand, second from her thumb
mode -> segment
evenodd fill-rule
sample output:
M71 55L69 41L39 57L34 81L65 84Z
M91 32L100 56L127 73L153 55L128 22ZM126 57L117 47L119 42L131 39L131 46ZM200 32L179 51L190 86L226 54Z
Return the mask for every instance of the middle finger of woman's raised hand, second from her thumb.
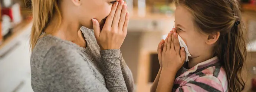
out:
M116 8L114 20L113 20L113 23L112 23L112 27L114 27L114 28L118 27L118 23L119 23L119 20L120 20L120 15L121 15L123 5L124 5L124 1L120 1L118 7Z

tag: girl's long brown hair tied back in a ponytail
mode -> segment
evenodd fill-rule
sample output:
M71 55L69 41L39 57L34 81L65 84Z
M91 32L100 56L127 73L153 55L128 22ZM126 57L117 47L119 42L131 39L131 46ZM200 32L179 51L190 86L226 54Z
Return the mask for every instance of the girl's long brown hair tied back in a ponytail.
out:
M243 36L239 2L237 0L174 0L176 6L186 7L194 23L203 33L220 32L214 48L227 74L230 92L241 92L245 83L242 68L246 61L246 42Z

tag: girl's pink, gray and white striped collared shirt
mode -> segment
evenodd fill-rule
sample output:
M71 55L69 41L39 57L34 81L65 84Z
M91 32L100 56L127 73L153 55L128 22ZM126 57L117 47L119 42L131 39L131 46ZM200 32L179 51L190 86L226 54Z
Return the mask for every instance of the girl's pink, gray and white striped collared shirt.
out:
M226 72L218 57L201 62L189 70L182 67L176 76L173 92L228 92Z

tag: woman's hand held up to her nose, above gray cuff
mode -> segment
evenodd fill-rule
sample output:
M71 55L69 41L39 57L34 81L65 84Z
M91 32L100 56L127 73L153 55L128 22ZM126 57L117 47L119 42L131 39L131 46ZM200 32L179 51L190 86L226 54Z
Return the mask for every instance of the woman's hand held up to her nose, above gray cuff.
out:
M112 6L111 13L106 18L106 22L100 29L99 22L92 19L95 38L101 50L120 49L127 34L129 14L124 1L116 2Z

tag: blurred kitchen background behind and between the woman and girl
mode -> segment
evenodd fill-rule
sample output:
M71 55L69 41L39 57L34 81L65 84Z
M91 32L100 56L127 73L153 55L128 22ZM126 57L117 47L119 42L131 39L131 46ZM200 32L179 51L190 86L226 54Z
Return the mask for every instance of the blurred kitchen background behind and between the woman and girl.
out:
M256 0L241 0L248 60L244 92L256 88ZM127 0L130 22L121 47L136 92L150 92L159 69L157 45L174 25L172 0ZM30 83L31 8L24 0L0 0L0 92L33 92ZM132 57L132 58L131 58ZM254 82L253 82L254 81ZM254 85L254 87L253 87Z

